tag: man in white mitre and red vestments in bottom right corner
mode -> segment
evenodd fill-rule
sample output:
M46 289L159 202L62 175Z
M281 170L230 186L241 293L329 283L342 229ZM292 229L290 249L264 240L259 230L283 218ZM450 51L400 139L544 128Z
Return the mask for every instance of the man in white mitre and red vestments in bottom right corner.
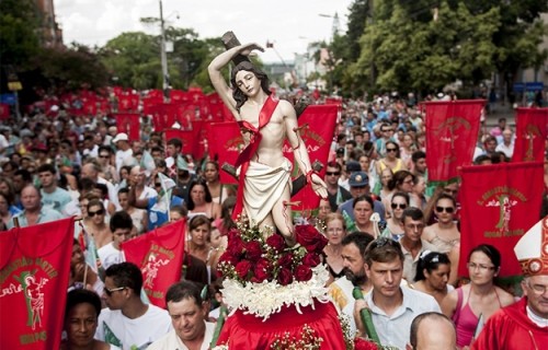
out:
M492 315L471 349L546 349L548 345L548 217L514 247L524 296Z

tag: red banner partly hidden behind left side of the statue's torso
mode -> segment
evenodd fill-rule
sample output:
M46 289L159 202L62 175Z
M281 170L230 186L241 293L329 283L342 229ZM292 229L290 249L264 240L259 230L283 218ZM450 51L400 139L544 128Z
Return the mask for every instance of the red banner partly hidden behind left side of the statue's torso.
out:
M235 121L213 122L209 127L209 158L217 159L217 163L236 164L238 154L244 148L243 138ZM238 184L238 180L226 172L219 172L222 184Z

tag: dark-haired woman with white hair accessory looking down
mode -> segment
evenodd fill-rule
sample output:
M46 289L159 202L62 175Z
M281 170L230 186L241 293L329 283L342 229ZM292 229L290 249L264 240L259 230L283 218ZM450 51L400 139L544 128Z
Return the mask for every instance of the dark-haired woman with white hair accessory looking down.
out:
M448 292L455 290L448 282L450 261L446 254L424 250L416 264L412 288L434 296L439 305Z

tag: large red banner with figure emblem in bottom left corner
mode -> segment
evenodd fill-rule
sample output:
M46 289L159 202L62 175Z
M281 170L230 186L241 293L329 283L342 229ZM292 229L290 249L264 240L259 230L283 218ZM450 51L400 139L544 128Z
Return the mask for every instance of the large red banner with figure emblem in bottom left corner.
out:
M72 218L0 234L0 348L59 349Z

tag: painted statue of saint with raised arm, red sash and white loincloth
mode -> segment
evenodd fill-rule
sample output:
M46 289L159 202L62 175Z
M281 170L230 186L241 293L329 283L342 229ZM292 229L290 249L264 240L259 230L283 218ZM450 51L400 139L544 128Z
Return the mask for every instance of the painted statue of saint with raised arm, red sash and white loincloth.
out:
M294 246L292 163L283 154L286 139L293 148L300 172L306 175L316 194L327 198L327 185L312 171L299 133L295 108L289 102L271 96L266 74L244 60L232 70L233 91L225 81L221 69L237 56L248 56L254 49L264 50L256 44L235 46L217 56L208 67L212 83L238 121L247 145L236 164L241 167L239 199L233 215L236 218L244 209L244 213L260 228L277 228L287 245Z

